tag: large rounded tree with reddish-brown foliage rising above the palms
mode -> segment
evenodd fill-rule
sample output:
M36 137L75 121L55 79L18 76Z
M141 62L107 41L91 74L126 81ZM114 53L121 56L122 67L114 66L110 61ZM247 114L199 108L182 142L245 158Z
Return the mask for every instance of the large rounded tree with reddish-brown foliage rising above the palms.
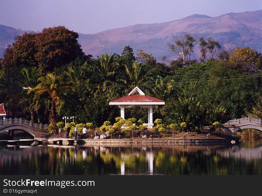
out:
M53 71L84 56L77 38L78 33L63 26L50 27L15 37L12 48L19 64L38 66L41 72Z

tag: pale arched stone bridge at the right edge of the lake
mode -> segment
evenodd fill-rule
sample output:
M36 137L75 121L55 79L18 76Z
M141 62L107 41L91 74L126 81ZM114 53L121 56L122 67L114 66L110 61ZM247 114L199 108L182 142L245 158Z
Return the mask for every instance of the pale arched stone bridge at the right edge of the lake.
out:
M262 131L261 119L257 118L238 118L234 120L227 121L221 129L224 129L228 133L233 133L241 129L256 129Z

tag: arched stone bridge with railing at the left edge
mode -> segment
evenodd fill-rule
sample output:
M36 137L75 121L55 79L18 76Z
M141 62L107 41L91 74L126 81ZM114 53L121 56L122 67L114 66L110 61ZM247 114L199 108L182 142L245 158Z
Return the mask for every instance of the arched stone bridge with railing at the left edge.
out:
M36 137L46 133L48 125L33 123L32 121L27 121L22 118L6 118L5 120L0 121L0 133L15 129L23 130Z

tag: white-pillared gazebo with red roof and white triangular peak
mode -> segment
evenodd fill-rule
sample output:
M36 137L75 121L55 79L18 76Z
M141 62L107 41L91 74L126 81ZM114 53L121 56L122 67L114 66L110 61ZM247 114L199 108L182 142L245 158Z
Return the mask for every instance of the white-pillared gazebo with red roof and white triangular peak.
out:
M134 93L138 92L138 95ZM128 93L128 95L115 99L109 102L109 105L118 105L121 111L121 117L125 118L125 108L139 106L141 108L148 108L148 123L143 125L148 128L153 128L153 107L155 105L165 105L165 101L145 95L138 87L135 87Z

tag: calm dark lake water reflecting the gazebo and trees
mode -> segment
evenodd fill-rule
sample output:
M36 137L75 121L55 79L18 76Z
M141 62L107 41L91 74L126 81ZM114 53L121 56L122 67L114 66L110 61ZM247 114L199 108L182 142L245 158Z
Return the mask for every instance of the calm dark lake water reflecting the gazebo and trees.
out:
M262 175L262 144L1 146L0 175Z

